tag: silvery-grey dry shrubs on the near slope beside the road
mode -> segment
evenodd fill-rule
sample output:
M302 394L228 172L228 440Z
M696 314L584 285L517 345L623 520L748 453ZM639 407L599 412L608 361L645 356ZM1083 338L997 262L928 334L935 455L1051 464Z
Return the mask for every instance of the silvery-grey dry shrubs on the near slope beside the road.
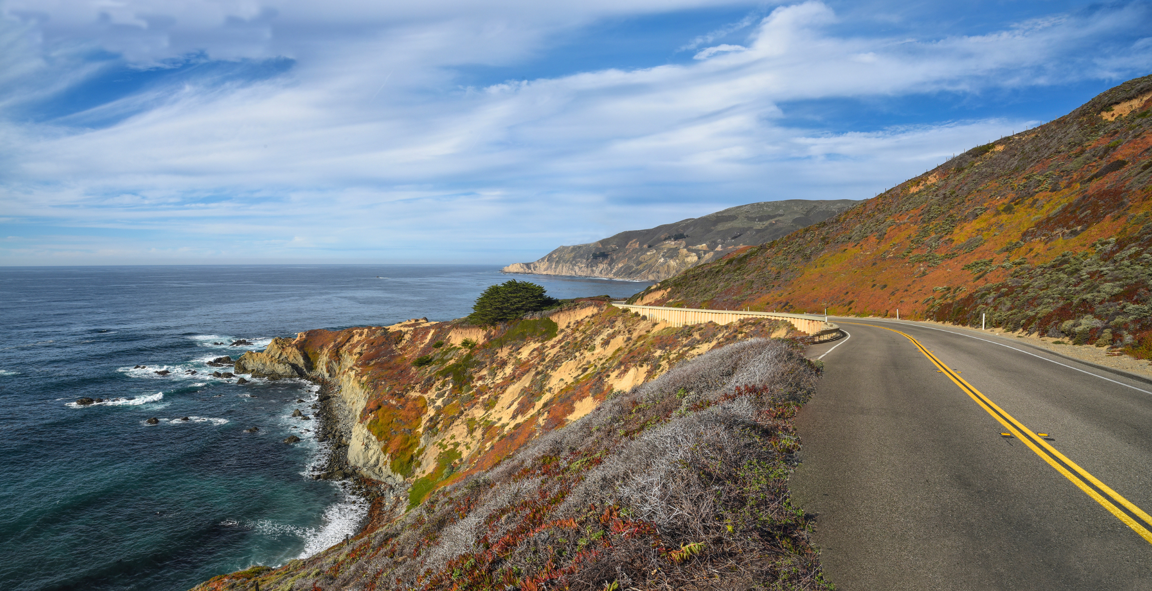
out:
M590 414L564 430L582 427L584 422L612 425L630 401L680 406L675 393L681 391L692 393L685 400L698 396L714 401L735 393L737 386L758 386L774 399L799 402L814 387L813 372L803 365L798 354L778 342L756 339L730 344L635 388L615 408L605 404L605 412ZM738 396L644 432L590 471L559 513L591 502L621 502L661 530L702 535L707 516L714 514L715 494L699 480L692 465L708 460L738 461L740 455L752 453L741 431L756 423L766 402L758 396ZM718 457L718 449L729 450L722 453L729 457Z

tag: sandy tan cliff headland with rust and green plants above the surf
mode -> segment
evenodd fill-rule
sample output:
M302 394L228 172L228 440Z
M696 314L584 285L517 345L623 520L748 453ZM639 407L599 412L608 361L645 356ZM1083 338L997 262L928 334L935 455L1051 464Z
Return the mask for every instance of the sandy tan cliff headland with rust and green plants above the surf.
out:
M410 484L418 502L679 361L788 331L772 320L677 328L585 303L487 331L423 320L309 331L244 354L235 372L338 382L355 416L349 462Z

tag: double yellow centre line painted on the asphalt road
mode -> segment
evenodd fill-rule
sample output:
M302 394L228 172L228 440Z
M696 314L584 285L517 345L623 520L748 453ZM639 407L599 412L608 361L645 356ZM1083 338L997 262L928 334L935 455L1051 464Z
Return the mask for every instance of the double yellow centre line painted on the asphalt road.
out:
M912 341L925 357L929 358L937 368L948 376L960 389L964 391L977 404L980 406L992 418L1000 422L1005 429L1008 430L1016 439L1024 442L1036 455L1040 456L1048 465L1055 468L1055 470L1073 482L1079 490L1084 491L1084 494L1091 497L1096 502L1100 503L1105 509L1116 516L1117 520L1124 522L1126 525L1132 529L1136 533L1139 533L1149 544L1152 544L1152 517L1144 513L1139 507L1135 506L1128 499L1124 499L1116 491L1109 488L1106 484L1101 483L1097 477L1092 476L1076 462L1073 462L1064 454L1061 454L1056 448L1048 445L1040 435L1037 435L1028 427L1025 427L1020 420L1016 420L1011 415L1005 412L1005 410L992 402L987 396L985 396L980 391L972 387L971 384L961 378L960 374L952 368L943 364L932 351L927 350L926 347L920 344L919 341L914 339L911 335L900 332L895 328L888 328L887 326L877 326L873 324L859 324L859 323L843 323L843 324L857 324L859 326L872 326L874 328L884 328L885 331L892 331L894 333L900 333L904 335L905 339Z

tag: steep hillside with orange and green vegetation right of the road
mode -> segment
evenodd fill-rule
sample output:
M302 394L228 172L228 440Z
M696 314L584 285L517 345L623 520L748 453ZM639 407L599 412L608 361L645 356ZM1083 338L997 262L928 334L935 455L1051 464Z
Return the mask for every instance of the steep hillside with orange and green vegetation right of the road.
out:
M1152 76L636 296L929 318L1152 356Z

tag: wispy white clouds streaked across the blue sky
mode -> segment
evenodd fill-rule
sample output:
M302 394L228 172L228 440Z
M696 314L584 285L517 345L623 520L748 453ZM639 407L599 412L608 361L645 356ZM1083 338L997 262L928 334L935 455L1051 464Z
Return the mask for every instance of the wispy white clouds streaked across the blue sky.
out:
M0 37L15 48L0 56L15 73L0 77L8 104L56 88L13 90L61 68L33 50L78 54L67 39L96 39L141 67L196 50L297 65L265 82L145 90L99 107L135 113L106 128L76 127L76 116L0 126L7 217L142 233L115 248L74 240L86 250L25 237L7 259L99 262L132 249L147 258L153 247L233 259L535 258L741 203L869 197L1023 127L998 119L838 134L797 128L781 105L1025 88L1147 59L1083 52L1146 22L1138 6L909 41L833 33L843 23L810 1L774 9L745 45L705 47L683 65L458 85L455 66L513 63L564 28L688 6L9 0L6 13L25 24ZM63 61L74 78L92 68Z

